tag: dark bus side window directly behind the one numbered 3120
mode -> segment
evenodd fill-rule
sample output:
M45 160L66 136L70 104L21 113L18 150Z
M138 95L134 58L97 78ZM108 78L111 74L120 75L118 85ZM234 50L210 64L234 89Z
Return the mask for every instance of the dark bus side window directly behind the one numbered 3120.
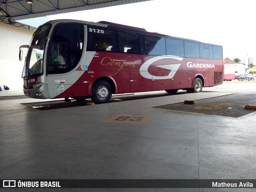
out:
M128 32L118 32L119 52L144 54L142 46L142 35Z

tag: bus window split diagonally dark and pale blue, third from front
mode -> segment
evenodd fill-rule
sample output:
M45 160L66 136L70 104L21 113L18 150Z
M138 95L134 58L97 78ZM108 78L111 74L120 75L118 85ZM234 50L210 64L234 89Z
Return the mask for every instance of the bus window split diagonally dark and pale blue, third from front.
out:
M146 55L166 55L165 38L145 36Z

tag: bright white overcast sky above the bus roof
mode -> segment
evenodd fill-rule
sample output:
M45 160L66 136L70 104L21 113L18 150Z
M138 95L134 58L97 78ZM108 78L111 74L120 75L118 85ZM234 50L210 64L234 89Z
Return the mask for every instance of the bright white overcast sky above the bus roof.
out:
M252 0L151 0L47 16L50 20L108 21L223 47L224 58L256 58Z

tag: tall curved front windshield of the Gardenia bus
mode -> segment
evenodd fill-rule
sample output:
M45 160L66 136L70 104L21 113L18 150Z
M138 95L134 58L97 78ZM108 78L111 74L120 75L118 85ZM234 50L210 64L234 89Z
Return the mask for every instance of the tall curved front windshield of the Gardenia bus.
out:
M43 73L44 46L50 28L51 25L48 24L36 30L26 57L23 77Z

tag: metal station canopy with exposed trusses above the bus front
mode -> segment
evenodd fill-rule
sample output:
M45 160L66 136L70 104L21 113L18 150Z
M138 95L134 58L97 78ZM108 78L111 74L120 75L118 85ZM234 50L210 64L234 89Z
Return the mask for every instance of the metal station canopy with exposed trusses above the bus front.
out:
M149 0L0 0L0 22L34 30L20 20L144 1Z

